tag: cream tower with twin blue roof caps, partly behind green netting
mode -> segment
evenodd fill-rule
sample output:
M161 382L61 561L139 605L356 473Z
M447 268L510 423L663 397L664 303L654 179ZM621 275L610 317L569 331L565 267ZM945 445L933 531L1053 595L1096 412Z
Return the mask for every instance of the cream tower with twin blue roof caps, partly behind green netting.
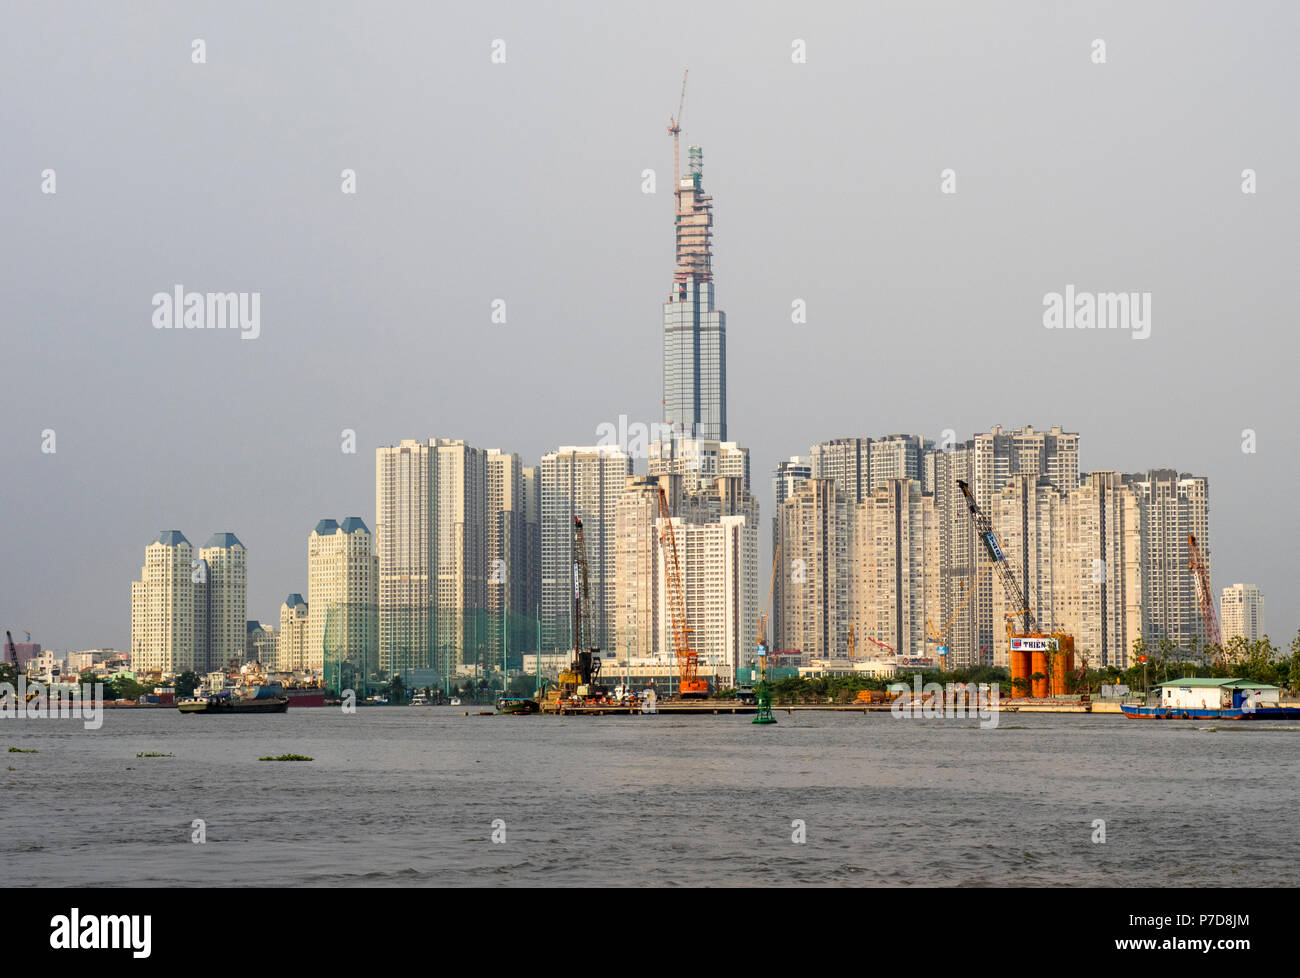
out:
M307 537L307 649L303 667L348 672L356 688L378 672L378 558L360 516L322 519Z

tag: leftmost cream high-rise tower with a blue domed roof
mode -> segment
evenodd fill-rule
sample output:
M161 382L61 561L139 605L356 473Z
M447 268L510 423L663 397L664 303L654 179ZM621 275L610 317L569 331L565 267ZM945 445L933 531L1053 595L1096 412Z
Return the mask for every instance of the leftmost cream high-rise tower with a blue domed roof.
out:
M138 674L195 667L194 546L165 529L144 548L140 579L131 584L131 665Z

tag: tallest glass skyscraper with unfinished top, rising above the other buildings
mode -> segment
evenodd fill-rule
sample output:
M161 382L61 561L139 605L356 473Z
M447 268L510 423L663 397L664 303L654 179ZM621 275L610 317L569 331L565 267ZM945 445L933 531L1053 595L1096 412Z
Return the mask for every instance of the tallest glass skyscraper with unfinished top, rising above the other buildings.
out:
M676 139L673 133L673 160ZM697 438L727 441L727 313L714 308L714 199L703 190L703 150L675 173L677 267L663 306L663 420Z

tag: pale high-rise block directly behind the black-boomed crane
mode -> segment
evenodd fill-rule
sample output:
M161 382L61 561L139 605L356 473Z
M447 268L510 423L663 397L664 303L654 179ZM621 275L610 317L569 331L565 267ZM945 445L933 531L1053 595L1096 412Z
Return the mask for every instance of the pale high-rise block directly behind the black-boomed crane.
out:
M582 520L592 622L615 640L614 523L632 459L616 445L563 446L542 456L542 652L572 648L573 519Z

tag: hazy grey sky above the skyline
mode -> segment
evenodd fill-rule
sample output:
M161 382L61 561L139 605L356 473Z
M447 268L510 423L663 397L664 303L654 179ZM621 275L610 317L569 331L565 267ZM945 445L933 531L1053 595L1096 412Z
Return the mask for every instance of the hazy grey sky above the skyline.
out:
M814 442L1060 424L1083 471L1208 476L1216 597L1258 584L1284 644L1297 27L1258 0L10 0L0 627L129 648L173 528L235 532L278 622L317 520L373 528L377 446L530 464L660 420L689 68L764 525ZM259 293L260 334L155 329L177 285ZM1067 285L1150 293L1150 334L1044 329Z

